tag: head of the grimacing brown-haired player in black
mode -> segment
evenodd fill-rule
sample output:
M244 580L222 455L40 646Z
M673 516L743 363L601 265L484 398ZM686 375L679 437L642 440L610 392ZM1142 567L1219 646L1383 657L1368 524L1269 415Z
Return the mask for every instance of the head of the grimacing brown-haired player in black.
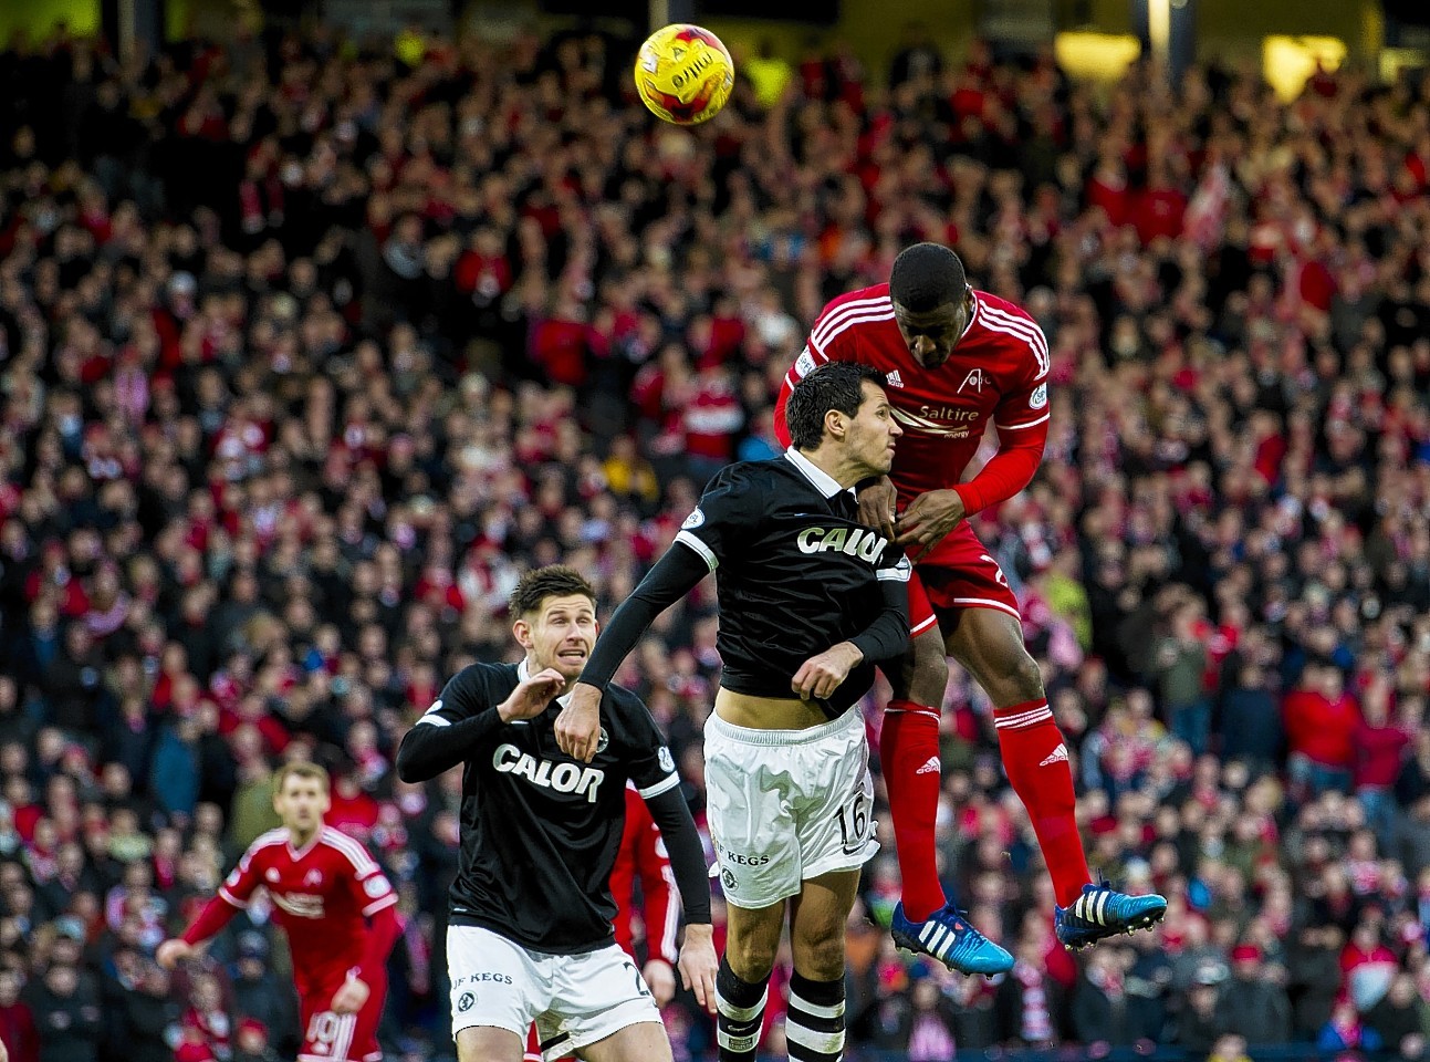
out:
M596 644L596 591L575 568L549 564L516 581L508 601L512 634L532 671L555 667L575 681Z

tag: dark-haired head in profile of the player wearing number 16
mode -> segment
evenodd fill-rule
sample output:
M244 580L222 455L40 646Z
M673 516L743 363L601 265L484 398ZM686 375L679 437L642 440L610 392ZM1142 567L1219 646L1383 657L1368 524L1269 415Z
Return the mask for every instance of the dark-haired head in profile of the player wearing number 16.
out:
M884 374L869 365L821 365L789 392L789 442L799 451L838 447L845 462L867 469L859 478L884 475L894 464L894 439L904 434L884 386Z

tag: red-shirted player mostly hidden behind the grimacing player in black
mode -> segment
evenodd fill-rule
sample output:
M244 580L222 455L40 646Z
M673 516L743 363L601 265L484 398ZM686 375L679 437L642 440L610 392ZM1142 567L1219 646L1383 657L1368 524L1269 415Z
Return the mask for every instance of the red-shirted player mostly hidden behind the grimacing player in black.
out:
M631 916L635 905L635 882L641 879L641 897L645 902L645 966L641 976L655 996L656 1006L665 1006L675 998L675 963L681 956L675 945L675 930L679 926L679 909L675 903L675 875L671 857L661 840L661 827L655 824L645 800L635 783L626 781L626 822L621 833L621 849L616 864L611 870L611 895L616 902L616 943L635 962L635 933ZM536 1041L536 1026L526 1033L525 1062L542 1062Z

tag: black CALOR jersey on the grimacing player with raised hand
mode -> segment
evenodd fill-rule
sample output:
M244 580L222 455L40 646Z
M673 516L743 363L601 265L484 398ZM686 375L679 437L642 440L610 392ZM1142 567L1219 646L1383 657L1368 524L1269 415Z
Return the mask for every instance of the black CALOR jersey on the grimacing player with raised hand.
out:
M419 726L449 726L495 708L526 677L526 663L472 664L442 690ZM601 743L586 764L556 747L553 700L535 718L506 723L462 774L462 852L450 890L453 925L482 926L523 947L576 955L613 937L611 899L625 829L625 784L642 797L679 784L649 710L629 690L601 698Z

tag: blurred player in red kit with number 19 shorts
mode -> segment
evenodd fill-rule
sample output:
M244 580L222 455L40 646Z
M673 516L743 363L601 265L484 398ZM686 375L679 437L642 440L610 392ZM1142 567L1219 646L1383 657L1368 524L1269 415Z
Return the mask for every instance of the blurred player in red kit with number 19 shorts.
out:
M159 946L157 959L172 969L192 958L267 889L293 952L299 1062L378 1062L388 953L402 929L398 893L362 844L323 824L327 806L327 771L312 763L282 767L273 807L283 826L249 846L219 895L183 936Z

